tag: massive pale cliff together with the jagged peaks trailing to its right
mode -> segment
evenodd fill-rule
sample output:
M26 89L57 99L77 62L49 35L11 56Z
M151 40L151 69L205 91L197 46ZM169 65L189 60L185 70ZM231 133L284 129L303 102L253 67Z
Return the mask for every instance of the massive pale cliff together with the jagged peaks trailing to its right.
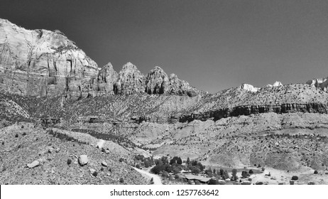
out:
M200 93L176 75L165 79L165 92L157 91L162 85L155 83L155 70L161 69L151 70L146 78L135 65L126 63L117 74L111 63L99 68L58 30L30 31L0 19L0 90L4 92L38 97L64 95L70 99L145 92L189 96Z

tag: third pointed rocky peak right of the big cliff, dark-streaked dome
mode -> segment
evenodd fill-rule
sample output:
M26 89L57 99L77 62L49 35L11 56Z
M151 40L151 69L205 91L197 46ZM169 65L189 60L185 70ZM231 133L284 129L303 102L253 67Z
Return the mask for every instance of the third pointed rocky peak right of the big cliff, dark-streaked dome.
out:
M146 77L146 92L148 94L163 94L168 92L168 75L155 66Z

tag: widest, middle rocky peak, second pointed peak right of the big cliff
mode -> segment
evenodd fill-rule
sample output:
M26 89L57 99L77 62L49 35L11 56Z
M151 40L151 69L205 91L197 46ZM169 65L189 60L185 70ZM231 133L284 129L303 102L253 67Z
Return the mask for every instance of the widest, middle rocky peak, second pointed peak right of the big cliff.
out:
M132 63L126 63L119 72L117 82L114 84L114 93L131 95L145 92L145 77Z

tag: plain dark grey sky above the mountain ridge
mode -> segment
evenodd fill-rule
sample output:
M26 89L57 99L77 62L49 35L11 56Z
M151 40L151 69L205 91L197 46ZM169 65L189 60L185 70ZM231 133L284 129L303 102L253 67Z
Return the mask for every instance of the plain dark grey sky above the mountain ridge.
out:
M328 1L4 1L0 18L58 29L99 67L155 65L209 92L328 76Z

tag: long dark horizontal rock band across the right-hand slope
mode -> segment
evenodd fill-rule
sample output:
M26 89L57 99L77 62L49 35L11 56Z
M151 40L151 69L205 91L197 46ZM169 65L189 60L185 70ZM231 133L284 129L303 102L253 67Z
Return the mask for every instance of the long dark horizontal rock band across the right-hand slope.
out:
M322 103L307 103L307 104L275 104L275 105L247 105L238 107L229 107L208 112L193 113L190 115L183 115L179 118L179 122L192 122L195 119L206 121L213 119L217 121L225 117L238 117L240 115L261 114L275 112L283 114L288 112L309 112L327 114L327 104Z

